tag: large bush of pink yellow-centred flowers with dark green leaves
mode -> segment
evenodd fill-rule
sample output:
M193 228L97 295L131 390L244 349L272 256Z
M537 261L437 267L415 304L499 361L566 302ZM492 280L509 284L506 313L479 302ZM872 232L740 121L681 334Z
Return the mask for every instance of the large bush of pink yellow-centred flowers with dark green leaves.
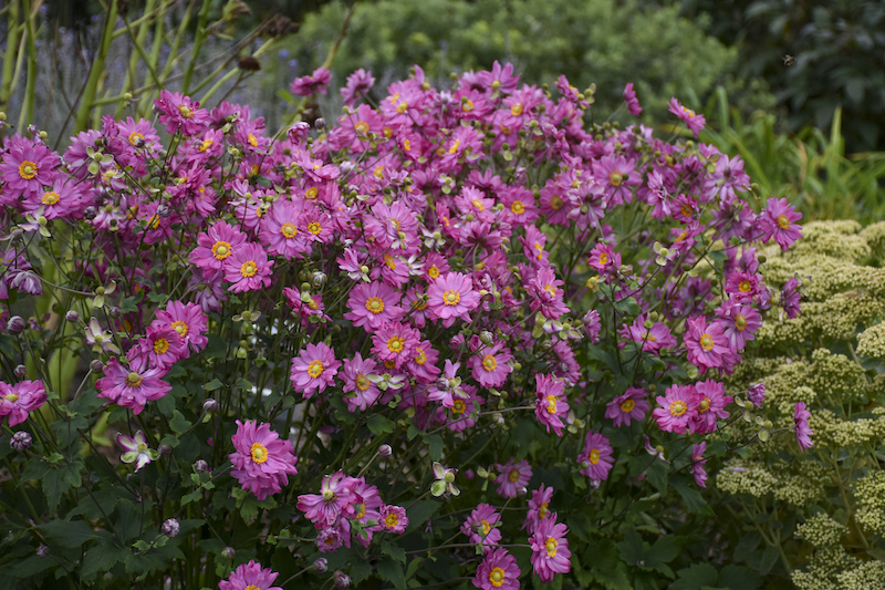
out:
M373 84L4 141L0 580L758 588L699 489L801 215L676 99L659 138L509 64Z

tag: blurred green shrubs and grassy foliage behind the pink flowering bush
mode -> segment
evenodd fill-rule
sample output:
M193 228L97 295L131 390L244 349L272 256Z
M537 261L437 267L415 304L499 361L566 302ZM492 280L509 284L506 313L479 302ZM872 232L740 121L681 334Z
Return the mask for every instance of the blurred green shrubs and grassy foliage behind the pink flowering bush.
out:
M189 3L177 1L181 6L170 14ZM0 0L4 51L2 17L14 2ZM64 76L56 74L53 82L46 74L45 83L61 80L71 85L65 96L76 97L79 76L87 72L101 35L104 2L42 3L37 50L42 43L54 46L53 55L77 58L62 66ZM135 20L145 3L121 0L121 15ZM512 62L525 83L552 85L565 74L581 90L595 84L594 110L603 116L621 104L624 84L634 82L645 123L669 121L666 101L671 96L705 113L709 123L701 141L740 154L760 197L785 196L806 218L885 218L881 0L361 0L332 51L352 6L343 0L211 0L210 22L236 14L212 31L211 51L222 51L225 39L242 39L274 15L291 19L290 31L296 31L277 37L260 59L261 71L238 89L220 89L214 102L226 96L248 103L275 128L291 116L289 82L330 54L333 89L365 68L379 91L409 75L414 64L441 84L451 73L487 69L494 60ZM195 32L196 27L194 19ZM258 40L238 51L249 55L257 48ZM46 70L58 71L59 60L52 63ZM115 68L110 60L107 80ZM173 84L171 90L178 89ZM52 87L46 94L54 95ZM334 91L320 103L327 116L340 112ZM14 113L15 93L0 107ZM44 111L49 107L35 113ZM635 121L623 110L616 116L622 123ZM61 123L44 125L65 133Z

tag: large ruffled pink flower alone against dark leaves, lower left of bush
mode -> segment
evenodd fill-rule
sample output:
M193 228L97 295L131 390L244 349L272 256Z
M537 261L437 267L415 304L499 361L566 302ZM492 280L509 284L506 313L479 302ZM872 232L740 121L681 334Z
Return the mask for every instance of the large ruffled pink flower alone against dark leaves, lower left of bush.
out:
M263 500L282 491L290 475L298 475L294 448L289 439L280 441L269 424L257 424L249 420L237 421L237 433L231 437L235 452L228 455L237 478L243 489Z

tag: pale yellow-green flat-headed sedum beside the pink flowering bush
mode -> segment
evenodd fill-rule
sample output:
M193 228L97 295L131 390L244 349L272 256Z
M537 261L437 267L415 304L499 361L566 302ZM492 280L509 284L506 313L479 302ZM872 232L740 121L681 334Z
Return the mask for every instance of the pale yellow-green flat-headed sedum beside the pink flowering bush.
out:
M804 278L802 314L763 325L727 383L735 392L763 383L764 402L748 404L748 417L774 427L791 427L794 405L805 404L813 446L743 448L716 487L736 560L801 590L875 587L885 577L885 224L815 221L803 232L789 252L766 252L772 284Z

